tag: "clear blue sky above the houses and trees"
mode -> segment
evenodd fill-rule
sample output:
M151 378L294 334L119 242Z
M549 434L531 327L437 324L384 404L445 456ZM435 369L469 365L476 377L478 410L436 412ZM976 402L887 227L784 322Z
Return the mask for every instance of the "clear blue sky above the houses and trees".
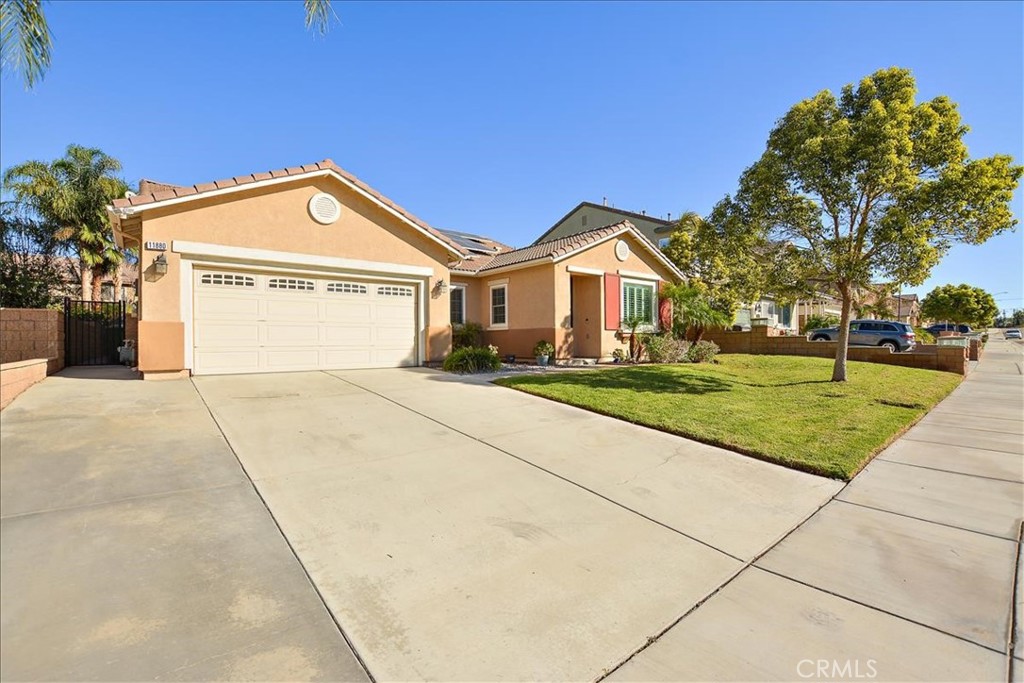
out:
M581 201L707 213L785 111L872 71L1024 157L1024 4L50 2L53 66L5 78L0 166L98 146L190 184L332 158L438 227L521 246ZM1014 210L1024 215L1018 190ZM1024 307L1022 228L919 288Z

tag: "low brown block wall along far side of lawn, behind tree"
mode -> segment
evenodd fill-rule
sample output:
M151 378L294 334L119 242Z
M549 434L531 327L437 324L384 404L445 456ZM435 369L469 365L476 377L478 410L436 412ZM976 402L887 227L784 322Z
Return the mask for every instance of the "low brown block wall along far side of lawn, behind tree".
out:
M774 328L754 328L750 332L709 330L703 338L718 344L723 353L836 357L837 342L812 342L803 336L779 335ZM881 346L851 346L848 357L850 360L938 370L958 375L967 375L968 371L968 349L959 346L919 344L913 351L906 353L892 353Z

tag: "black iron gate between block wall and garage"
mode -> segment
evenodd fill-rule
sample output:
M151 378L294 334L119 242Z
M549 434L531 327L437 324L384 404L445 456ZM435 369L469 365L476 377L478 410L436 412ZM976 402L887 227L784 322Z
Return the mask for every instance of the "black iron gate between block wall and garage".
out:
M66 366L117 365L124 338L124 301L65 299Z

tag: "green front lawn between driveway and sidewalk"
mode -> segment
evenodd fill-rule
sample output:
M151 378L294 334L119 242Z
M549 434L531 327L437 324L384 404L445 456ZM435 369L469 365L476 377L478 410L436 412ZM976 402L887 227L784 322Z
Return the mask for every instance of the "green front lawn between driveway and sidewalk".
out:
M520 375L499 384L721 445L787 467L849 479L961 377L783 355L720 355L717 365L629 366ZM741 485L741 482L737 482Z

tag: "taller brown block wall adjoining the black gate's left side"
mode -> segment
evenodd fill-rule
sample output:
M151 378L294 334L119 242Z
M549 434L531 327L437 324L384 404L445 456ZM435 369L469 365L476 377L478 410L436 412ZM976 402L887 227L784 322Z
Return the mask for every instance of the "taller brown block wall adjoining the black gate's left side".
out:
M0 308L0 364L43 358L47 374L63 368L63 312Z

